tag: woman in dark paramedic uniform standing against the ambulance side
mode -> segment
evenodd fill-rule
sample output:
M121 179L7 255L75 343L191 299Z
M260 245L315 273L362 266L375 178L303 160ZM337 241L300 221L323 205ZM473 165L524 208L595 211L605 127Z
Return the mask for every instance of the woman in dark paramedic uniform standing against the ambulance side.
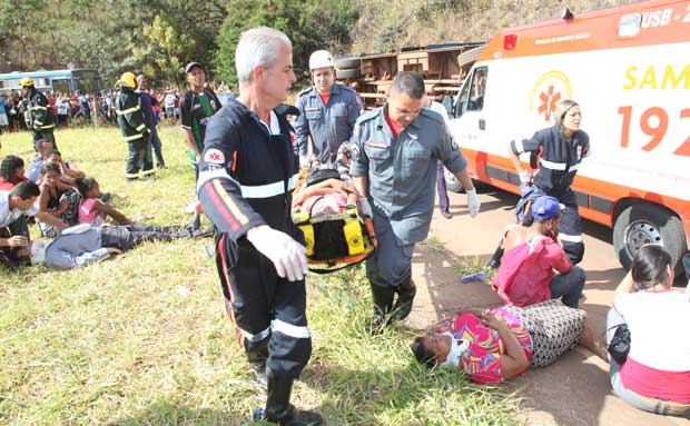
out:
M521 181L522 199L516 207L518 220L522 221L524 215L529 224L531 215L524 212L529 200L545 195L558 198L565 206L561 212L559 238L573 265L582 260L584 244L578 200L570 186L582 159L591 152L590 137L580 130L581 119L580 106L569 99L562 100L555 107L554 126L539 130L531 139L512 140L509 149ZM520 162L522 152L530 152L532 167L539 167L533 177Z

